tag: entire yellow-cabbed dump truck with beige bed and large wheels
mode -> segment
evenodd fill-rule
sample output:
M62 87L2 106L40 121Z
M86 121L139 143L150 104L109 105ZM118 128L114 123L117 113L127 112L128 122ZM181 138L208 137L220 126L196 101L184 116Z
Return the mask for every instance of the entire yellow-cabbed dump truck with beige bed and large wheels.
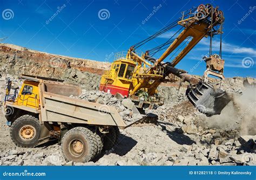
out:
M21 78L19 91L8 80L3 105L11 139L19 147L58 139L66 160L87 162L103 148L111 149L119 128L127 127L114 107L70 98L82 93L79 86L31 75Z

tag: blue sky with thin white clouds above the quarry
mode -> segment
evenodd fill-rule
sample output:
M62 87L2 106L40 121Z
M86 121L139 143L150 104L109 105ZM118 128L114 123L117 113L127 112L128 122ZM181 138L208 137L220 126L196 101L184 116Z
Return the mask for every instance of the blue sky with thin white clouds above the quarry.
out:
M225 77L254 77L256 59L256 1L25 1L0 0L2 43L64 56L113 61L112 54L149 37L181 16L181 11L201 2L218 5L224 11L223 59ZM160 6L160 8L158 7ZM143 20L158 10L146 22ZM58 11L58 14L56 15ZM100 11L106 17L99 16ZM10 12L8 14L8 12ZM8 16L10 15L10 16ZM166 41L174 30L156 38L141 49L152 49ZM177 65L191 74L202 75L209 38L204 38ZM218 53L219 37L213 38ZM158 56L157 56L158 55ZM156 58L159 54L156 54ZM167 58L165 61L170 61ZM196 67L196 68L193 68Z

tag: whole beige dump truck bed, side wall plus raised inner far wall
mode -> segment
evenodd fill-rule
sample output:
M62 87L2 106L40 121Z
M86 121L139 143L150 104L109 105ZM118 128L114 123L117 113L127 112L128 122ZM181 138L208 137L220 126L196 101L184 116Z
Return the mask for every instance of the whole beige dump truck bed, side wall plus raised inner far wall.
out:
M80 95L82 91L78 86L42 81L39 88L42 121L127 127L116 108L70 98L71 94Z

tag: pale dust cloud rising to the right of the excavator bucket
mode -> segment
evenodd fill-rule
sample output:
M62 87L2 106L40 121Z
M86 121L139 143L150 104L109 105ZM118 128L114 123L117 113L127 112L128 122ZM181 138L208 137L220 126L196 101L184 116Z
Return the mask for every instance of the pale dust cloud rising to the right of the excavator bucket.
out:
M204 117L205 125L223 130L238 129L240 135L256 135L256 87L242 94L232 94L232 100L220 115Z

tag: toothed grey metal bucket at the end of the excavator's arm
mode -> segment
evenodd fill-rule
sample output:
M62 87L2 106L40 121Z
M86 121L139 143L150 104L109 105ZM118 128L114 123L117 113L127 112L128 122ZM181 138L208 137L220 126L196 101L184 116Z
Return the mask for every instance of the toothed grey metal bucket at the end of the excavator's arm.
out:
M195 88L188 88L186 95L198 111L208 117L220 114L231 101L231 96L223 89L213 88L204 82L199 82Z

